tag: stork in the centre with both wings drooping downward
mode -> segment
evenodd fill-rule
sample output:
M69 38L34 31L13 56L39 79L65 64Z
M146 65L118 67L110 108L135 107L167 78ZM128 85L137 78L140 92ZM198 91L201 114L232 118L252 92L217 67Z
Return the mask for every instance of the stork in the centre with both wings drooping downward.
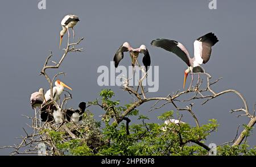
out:
M134 49L130 46L129 43L125 42L119 47L117 52L115 53L114 56L114 63L115 63L115 68L117 68L119 62L123 59L123 52L130 52L131 56L131 65L134 67L137 62L137 58L139 56L139 53L142 53L144 55L142 62L144 66L146 67L146 72L148 70L148 66L150 66L150 55L148 53L148 50L145 45L141 45L141 47Z

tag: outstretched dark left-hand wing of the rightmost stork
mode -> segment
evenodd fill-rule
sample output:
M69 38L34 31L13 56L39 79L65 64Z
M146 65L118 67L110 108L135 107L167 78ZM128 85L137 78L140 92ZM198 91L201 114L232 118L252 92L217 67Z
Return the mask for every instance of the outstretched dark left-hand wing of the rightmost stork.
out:
M180 59L182 59L188 66L190 66L189 53L183 44L175 40L156 39L151 41L151 45L163 48L166 51L174 53L175 55L179 56Z

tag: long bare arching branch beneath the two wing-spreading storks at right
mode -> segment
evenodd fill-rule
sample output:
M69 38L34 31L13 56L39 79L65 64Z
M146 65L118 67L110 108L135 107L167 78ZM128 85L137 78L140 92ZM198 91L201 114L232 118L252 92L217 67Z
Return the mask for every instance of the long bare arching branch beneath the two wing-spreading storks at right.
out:
M142 70L142 72L144 72L144 69L141 68L141 66L139 66L140 69ZM238 97L241 99L241 101L243 102L243 107L236 109L236 110L232 110L231 112L245 112L245 114L241 114L238 116L247 116L248 118L250 118L250 122L247 124L248 127L253 127L254 124L256 123L256 117L255 117L255 110L253 114L250 114L249 112L249 108L247 105L247 102L245 100L245 98L243 98L243 95L238 92L237 90L233 90L233 89L229 89L229 90L224 90L221 91L219 93L216 93L216 91L214 91L212 89L211 86L216 85L216 83L218 83L218 81L220 81L222 78L218 78L217 80L210 82L210 78L212 78L212 76L210 76L208 73L199 73L199 74L203 74L207 77L207 86L205 88L201 88L203 86L203 80L201 80L200 82L197 82L197 85L194 87L193 90L184 90L184 91L176 91L176 93L172 93L172 95L168 95L167 97L153 97L153 98L146 98L146 95L144 95L144 88L143 85L141 84L142 81L144 80L144 78L146 77L146 74L144 72L144 76L141 78L141 80L139 81L139 86L137 87L137 90L134 90L133 87L128 85L128 79L126 79L125 84L123 85L123 90L128 91L129 94L135 95L135 97L137 97L137 100L135 102L133 102L128 108L126 108L125 111L122 112L122 114L117 117L117 123L119 124L120 122L122 122L123 118L126 117L127 114L129 114L131 111L133 111L135 108L141 106L143 103L149 102L149 101L156 101L154 103L153 106L151 106L151 110L158 110L160 108L162 108L163 106L166 106L169 103L172 103L172 105L175 107L176 110L178 111L188 111L192 117L194 118L197 127L200 127L199 125L199 121L196 118L195 113L192 111L192 106L193 103L190 103L189 106L183 107L183 108L179 108L177 107L177 105L175 104L175 101L179 102L179 98L183 95L188 95L188 94L193 94L191 98L182 101L182 102L191 102L197 99L205 99L205 101L201 104L204 105L205 103L209 102L211 99L220 97L221 95L224 95L226 93L233 93L238 95ZM141 87L141 91L142 93L138 93L139 87ZM203 93L208 93L208 95L203 95ZM159 107L155 107L160 101L166 101L163 103L163 105L160 105ZM234 141L233 145L239 145L241 144L241 142L243 141L243 139L245 139L245 135L243 135L244 133L246 133L247 130L243 130L240 135L238 136L237 140ZM237 136L237 135L236 135ZM197 143L200 144L200 143ZM203 147L203 145L201 145ZM206 147L205 147L206 148ZM207 148L208 149L208 148Z

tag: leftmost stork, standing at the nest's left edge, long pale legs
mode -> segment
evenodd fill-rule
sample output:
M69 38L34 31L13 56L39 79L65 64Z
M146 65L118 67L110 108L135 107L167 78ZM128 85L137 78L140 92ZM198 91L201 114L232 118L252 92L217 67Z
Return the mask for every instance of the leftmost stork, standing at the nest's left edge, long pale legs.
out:
M36 91L31 94L30 97L30 105L33 109L35 109L35 120L36 118L36 107L41 108L42 103L44 102L44 90L43 88L40 88L39 91ZM35 124L37 126L37 120L35 121Z

